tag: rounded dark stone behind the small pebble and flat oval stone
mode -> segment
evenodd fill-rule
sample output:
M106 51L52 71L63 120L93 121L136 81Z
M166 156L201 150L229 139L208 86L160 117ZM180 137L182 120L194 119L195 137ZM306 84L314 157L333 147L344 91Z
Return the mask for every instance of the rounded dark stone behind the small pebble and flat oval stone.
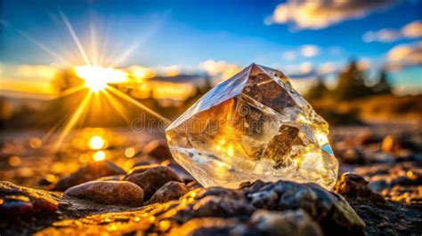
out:
M145 200L149 200L161 186L167 182L183 182L173 169L166 166L156 166L142 171L133 172L125 177L125 180L142 187Z

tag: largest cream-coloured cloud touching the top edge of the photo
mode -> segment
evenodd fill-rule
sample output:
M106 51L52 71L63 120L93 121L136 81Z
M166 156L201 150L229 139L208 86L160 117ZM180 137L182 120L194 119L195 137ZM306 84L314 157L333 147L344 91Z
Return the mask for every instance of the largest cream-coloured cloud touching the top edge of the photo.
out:
M279 4L267 25L294 23L296 28L326 28L343 20L358 19L370 11L393 4L394 0L288 0Z

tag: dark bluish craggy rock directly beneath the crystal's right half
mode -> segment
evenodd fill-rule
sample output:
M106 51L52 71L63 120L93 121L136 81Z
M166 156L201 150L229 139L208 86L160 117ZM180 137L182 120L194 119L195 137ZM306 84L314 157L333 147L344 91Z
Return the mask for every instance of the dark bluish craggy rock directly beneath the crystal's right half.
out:
M365 227L361 218L341 195L331 193L319 185L288 181L263 185L261 181L257 181L245 187L244 191L256 208L303 208L321 224L324 232L362 233Z

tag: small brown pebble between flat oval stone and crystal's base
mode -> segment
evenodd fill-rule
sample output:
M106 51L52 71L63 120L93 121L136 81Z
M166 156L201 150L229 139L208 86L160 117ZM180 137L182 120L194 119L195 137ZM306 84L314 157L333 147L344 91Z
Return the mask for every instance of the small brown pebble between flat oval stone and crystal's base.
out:
M188 193L188 188L183 183L170 181L160 187L156 193L152 195L147 204L163 203L166 201L177 200L185 193Z

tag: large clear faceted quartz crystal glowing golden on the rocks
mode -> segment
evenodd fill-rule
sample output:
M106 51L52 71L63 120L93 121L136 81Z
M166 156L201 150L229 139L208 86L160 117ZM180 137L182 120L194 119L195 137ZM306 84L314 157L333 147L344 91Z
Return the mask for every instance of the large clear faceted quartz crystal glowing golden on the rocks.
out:
M252 64L216 85L166 129L175 161L201 185L290 180L327 189L338 162L329 125L278 70Z

